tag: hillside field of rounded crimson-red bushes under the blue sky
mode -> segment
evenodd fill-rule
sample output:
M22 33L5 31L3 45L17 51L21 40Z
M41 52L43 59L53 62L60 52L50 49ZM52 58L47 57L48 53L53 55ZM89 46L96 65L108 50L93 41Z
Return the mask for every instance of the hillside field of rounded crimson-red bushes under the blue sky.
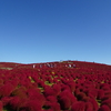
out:
M111 65L0 62L0 111L111 111Z

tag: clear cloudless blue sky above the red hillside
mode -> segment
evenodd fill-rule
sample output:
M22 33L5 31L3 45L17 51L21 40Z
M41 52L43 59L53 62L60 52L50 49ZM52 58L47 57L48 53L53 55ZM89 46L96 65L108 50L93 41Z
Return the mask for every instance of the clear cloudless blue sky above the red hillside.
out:
M0 0L0 62L111 64L111 0Z

